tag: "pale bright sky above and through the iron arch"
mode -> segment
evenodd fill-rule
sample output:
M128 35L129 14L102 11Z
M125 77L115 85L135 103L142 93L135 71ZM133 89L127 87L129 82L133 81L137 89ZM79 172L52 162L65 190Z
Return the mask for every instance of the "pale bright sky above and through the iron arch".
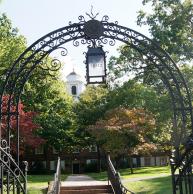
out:
M58 28L68 26L69 21L78 22L78 16L90 13L91 5L93 12L99 13L96 19L101 20L102 16L108 15L109 21L118 23L122 26L132 28L148 36L148 31L144 27L136 25L137 11L141 8L150 10L150 7L144 8L142 0L2 0L0 4L0 13L6 13L12 20L13 26L19 29L20 34L27 39L30 46L33 42ZM104 46L108 51L108 58L117 55L117 48L120 43L114 47ZM63 61L63 77L70 73L73 68L76 72L84 76L85 46L74 47L72 43L66 45L68 56L60 58ZM107 58L107 59L108 59Z

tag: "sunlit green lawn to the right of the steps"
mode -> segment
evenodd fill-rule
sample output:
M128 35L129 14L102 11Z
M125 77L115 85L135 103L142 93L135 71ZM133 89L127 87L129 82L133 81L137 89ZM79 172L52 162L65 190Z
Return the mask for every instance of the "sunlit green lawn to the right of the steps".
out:
M119 170L124 185L136 194L171 194L171 177L170 167L143 167L135 168L134 174L130 169ZM88 173L89 176L96 180L107 180L107 173ZM156 176L162 176L157 178ZM152 177L152 178L151 178ZM156 178L155 178L156 177ZM146 180L133 180L132 178L148 178ZM127 180L130 182L127 182ZM130 180L129 180L130 179Z

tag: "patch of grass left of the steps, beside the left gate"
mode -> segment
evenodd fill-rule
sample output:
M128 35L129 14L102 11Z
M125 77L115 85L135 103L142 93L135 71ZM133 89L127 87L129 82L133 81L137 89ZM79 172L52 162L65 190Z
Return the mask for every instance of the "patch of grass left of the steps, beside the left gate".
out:
M67 175L62 174L61 180L65 180ZM44 194L48 182L54 179L54 175L28 175L28 194Z

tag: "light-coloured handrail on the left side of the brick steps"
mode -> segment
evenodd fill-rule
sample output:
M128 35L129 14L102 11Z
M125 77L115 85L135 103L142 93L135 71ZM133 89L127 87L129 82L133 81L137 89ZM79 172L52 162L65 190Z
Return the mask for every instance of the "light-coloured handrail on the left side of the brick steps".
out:
M61 164L60 158L58 157L57 169L54 174L54 181L49 184L47 194L59 194L60 193L60 175L61 175Z

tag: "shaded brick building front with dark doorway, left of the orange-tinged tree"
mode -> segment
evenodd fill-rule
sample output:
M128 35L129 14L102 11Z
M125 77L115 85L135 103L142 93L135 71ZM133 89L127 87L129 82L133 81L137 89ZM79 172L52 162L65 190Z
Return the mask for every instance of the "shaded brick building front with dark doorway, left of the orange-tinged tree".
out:
M97 148L94 146L67 153L62 150L57 152L54 148L45 148L42 145L36 149L28 150L25 154L29 171L38 174L55 171L58 157L61 161L61 170L65 173L79 174L85 171L97 171L98 154ZM91 169L93 167L95 169Z

